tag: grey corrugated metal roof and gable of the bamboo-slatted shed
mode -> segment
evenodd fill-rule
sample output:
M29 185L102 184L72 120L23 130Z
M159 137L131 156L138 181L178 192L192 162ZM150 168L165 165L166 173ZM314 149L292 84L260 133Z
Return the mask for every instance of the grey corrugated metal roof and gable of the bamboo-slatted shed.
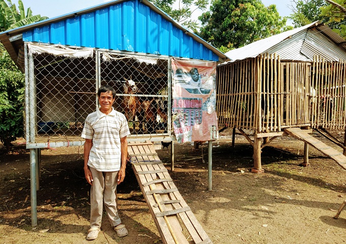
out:
M328 61L339 61L339 59L346 59L346 45L343 38L334 33L331 28L316 21L225 54L234 62L264 53L277 53L280 59L302 62L311 62L314 55L321 55Z

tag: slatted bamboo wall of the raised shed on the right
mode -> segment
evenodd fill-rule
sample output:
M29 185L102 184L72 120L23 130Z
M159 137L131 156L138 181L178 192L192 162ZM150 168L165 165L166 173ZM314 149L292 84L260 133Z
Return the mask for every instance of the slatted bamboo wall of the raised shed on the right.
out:
M219 128L257 133L296 126L342 129L345 82L345 62L322 58L312 64L280 62L276 54L264 54L219 66Z

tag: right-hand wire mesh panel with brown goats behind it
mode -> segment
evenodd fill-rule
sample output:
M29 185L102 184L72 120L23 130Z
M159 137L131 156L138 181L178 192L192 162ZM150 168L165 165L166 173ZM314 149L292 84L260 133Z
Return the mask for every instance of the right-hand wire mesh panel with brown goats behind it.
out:
M113 107L125 114L132 135L167 133L168 59L101 53L101 85L116 89Z

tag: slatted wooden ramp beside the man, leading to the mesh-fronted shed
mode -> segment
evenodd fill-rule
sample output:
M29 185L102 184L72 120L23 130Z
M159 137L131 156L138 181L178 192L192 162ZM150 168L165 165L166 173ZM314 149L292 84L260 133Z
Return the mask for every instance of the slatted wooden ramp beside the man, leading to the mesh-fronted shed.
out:
M213 243L180 195L152 142L129 142L128 153L162 241L167 244Z

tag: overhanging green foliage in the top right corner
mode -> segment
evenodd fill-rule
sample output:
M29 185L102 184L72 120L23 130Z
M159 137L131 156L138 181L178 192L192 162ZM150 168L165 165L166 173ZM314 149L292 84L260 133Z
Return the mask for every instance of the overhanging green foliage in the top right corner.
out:
M329 26L333 31L346 39L346 0L326 0L329 5L321 8L321 16L328 19Z

